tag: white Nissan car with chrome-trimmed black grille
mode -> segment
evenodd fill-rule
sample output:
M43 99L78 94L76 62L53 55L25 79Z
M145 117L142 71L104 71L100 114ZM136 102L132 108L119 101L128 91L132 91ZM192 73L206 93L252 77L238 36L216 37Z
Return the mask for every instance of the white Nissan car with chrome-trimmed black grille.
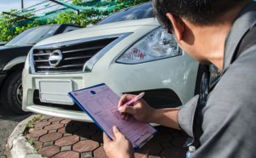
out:
M22 109L91 121L67 93L100 83L120 97L145 92L143 99L154 108L181 106L196 93L204 102L208 74L206 65L178 48L145 3L38 42L22 74Z

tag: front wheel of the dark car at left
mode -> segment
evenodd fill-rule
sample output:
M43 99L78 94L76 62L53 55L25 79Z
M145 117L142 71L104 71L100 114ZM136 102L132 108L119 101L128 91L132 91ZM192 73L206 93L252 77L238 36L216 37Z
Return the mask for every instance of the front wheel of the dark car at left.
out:
M22 110L22 82L21 71L8 76L3 83L2 89L3 106L16 114L22 115L27 112Z

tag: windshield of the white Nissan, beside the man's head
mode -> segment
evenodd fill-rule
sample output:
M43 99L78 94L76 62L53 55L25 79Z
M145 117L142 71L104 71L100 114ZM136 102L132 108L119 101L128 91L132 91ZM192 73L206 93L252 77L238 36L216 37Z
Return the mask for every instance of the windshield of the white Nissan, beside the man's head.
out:
M106 19L100 21L97 25L125 21L125 20L140 20L153 17L152 3L145 3L136 7L126 8L119 13L111 14Z

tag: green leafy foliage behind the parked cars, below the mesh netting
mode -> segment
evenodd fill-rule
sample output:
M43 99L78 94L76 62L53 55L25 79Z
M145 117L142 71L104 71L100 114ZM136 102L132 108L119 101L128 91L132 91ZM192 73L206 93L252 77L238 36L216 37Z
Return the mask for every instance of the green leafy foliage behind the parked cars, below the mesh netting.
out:
M108 14L116 12L120 9L131 7L133 5L137 5L139 3L146 3L149 0L106 0L105 2L101 2L100 0L96 0L96 2L100 2L96 4L94 7L102 7L114 6L112 9L101 12L98 9L90 9L88 11L80 11L79 14L77 11L67 11L63 14L58 14L54 19L48 19L47 22L42 21L28 21L28 22L20 22L22 19L19 17L15 17L13 15L5 15L1 14L0 17L0 41L1 42L9 42L11 39L19 35L22 31L30 29L32 27L36 27L38 25L50 25L50 24L73 24L73 25L96 25L100 20L106 17ZM83 0L73 0L73 4L79 6L89 6L90 3L84 3ZM9 14L14 13L16 10L12 9ZM29 18L33 14L26 14L25 17Z

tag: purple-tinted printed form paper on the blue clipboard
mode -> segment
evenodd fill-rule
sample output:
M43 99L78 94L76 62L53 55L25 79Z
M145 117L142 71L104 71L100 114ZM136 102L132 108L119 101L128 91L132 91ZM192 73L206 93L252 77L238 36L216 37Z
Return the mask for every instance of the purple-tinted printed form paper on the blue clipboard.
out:
M90 113L96 123L108 133L108 136L115 139L113 135L115 125L131 141L133 148L143 144L144 140L156 132L154 127L137 121L133 116L128 121L123 120L117 111L120 98L105 84L74 91L72 95L84 107L84 110Z

